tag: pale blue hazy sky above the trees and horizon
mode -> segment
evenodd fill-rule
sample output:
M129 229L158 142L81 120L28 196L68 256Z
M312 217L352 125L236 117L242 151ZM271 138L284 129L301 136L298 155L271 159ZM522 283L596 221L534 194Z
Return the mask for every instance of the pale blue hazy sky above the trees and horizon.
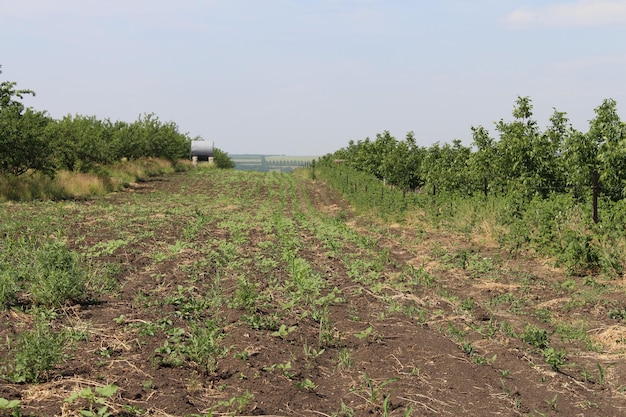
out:
M626 0L0 0L0 65L54 118L153 113L229 154L469 146L517 97L542 129L626 120Z

